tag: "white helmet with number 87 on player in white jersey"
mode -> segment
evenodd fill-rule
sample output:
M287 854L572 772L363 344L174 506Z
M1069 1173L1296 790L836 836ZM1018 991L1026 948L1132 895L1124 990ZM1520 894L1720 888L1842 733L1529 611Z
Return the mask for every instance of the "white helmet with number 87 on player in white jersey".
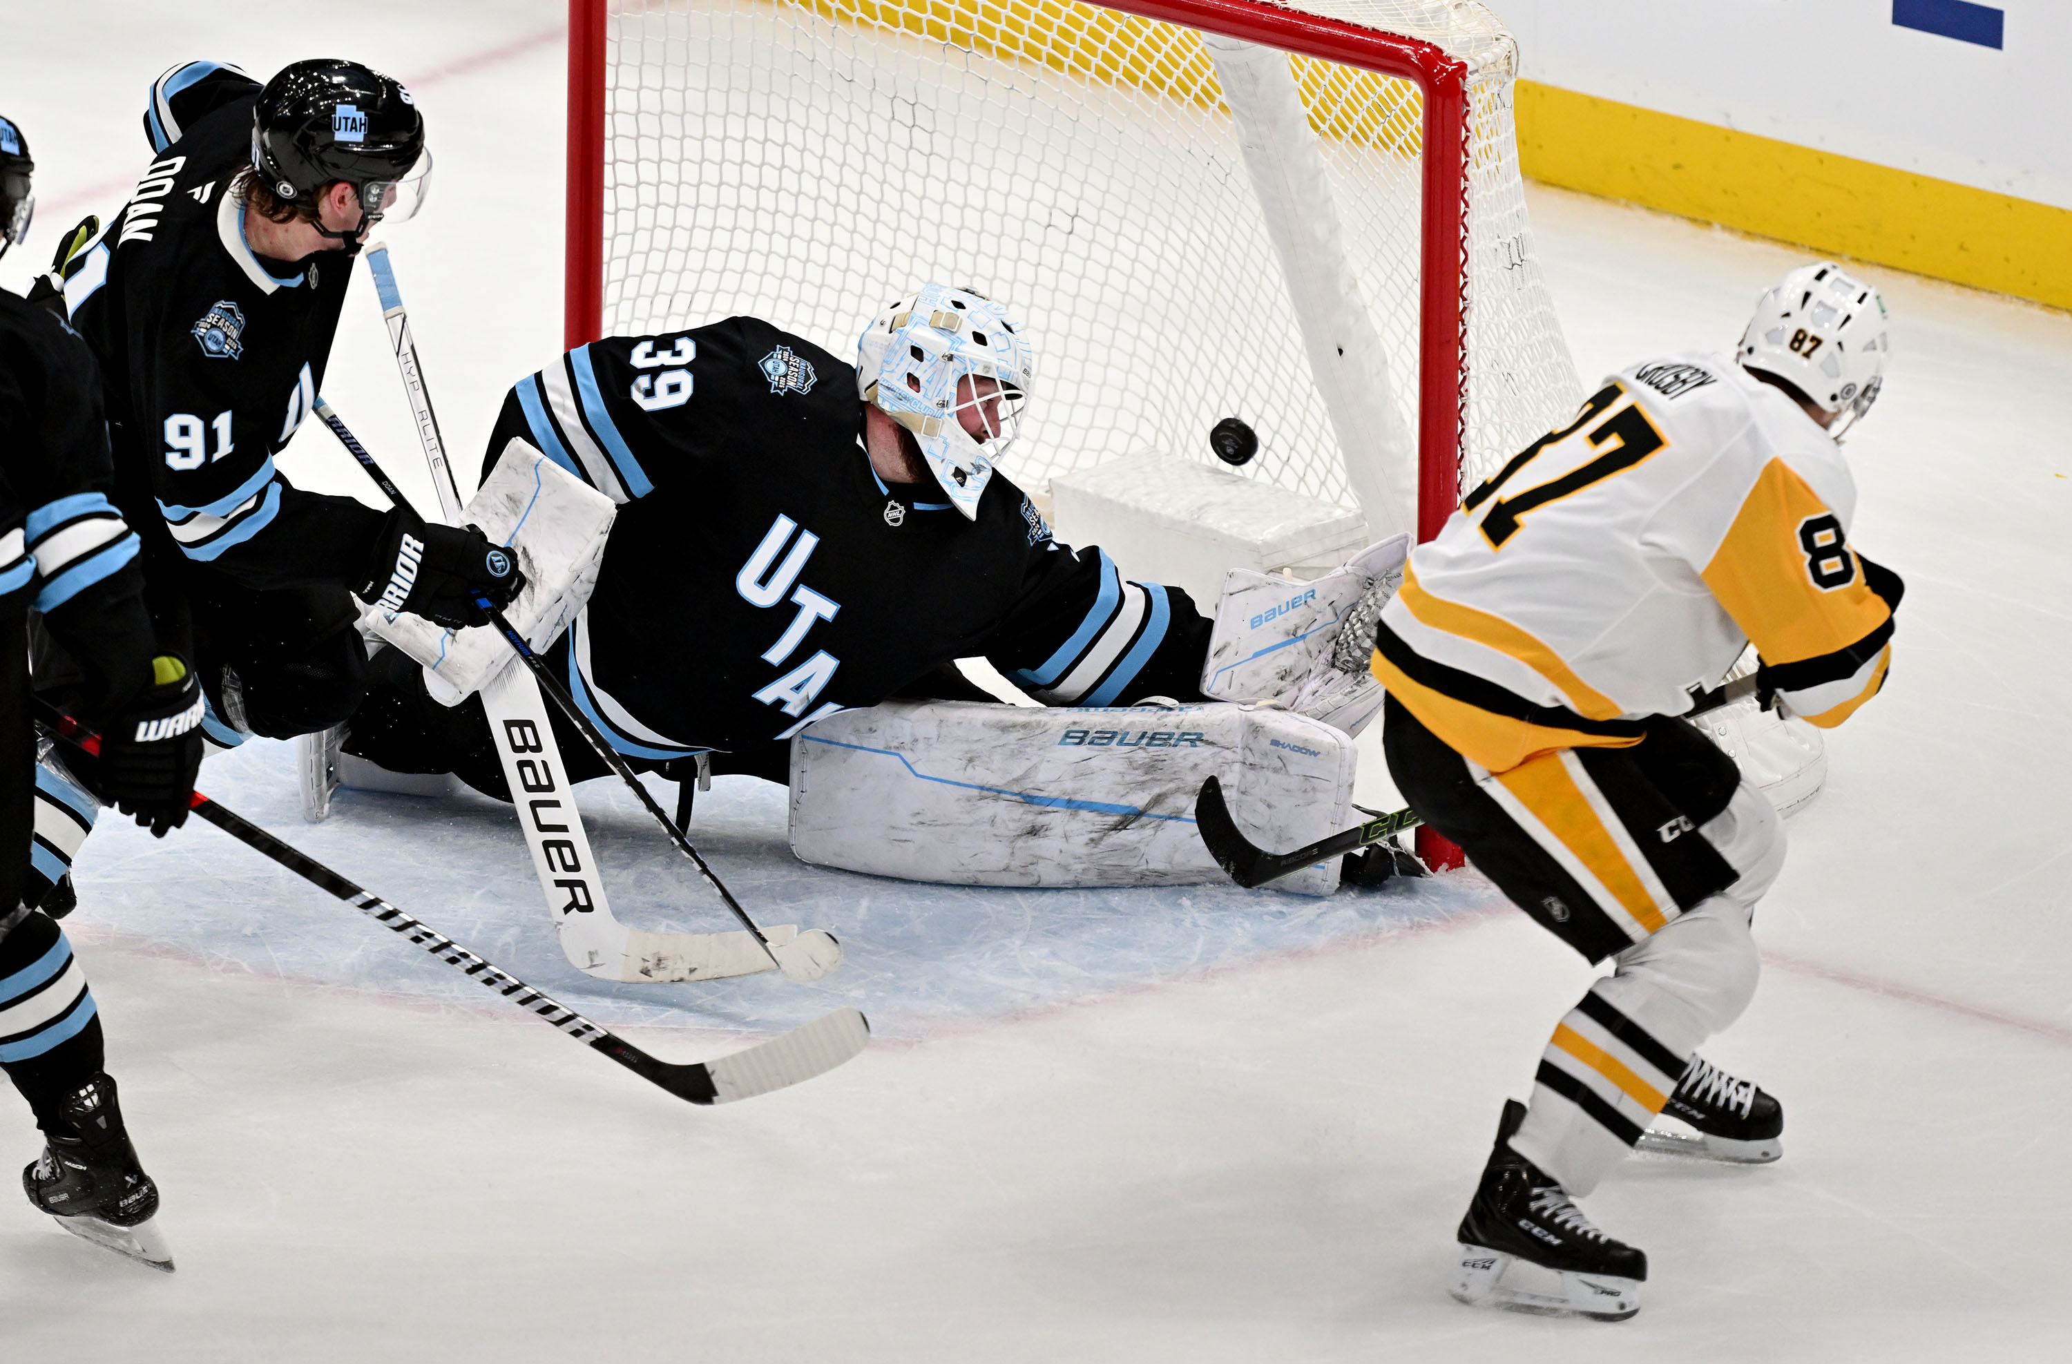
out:
M1848 413L1828 427L1857 425L1886 383L1886 301L1834 261L1801 265L1755 303L1736 359L1790 381L1823 413Z

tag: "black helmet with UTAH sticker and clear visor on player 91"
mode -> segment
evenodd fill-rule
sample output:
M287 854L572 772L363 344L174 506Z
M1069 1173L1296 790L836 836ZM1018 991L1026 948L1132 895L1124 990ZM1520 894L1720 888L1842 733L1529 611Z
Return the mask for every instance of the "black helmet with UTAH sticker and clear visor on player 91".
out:
M425 201L431 155L425 116L398 81L358 62L313 58L282 66L253 106L253 168L276 199L309 203L344 180L361 195L358 236L381 220L402 222Z

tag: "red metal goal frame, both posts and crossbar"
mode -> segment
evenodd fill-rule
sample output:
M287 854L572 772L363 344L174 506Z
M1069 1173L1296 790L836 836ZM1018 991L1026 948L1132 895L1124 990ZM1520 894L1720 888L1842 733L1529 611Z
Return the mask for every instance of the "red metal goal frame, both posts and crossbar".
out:
M564 346L597 340L605 292L605 100L615 0L568 4L568 236ZM1423 93L1417 539L1461 502L1467 419L1467 64L1436 44L1243 0L1119 0L1102 8L1357 66Z

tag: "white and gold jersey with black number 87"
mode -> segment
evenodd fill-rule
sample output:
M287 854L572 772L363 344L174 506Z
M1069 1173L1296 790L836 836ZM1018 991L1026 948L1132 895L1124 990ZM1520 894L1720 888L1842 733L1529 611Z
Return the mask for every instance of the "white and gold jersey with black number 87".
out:
M1411 553L1374 672L1490 771L1637 742L1749 641L1794 715L1838 726L1886 680L1900 599L1846 543L1854 506L1782 390L1718 354L1633 365Z

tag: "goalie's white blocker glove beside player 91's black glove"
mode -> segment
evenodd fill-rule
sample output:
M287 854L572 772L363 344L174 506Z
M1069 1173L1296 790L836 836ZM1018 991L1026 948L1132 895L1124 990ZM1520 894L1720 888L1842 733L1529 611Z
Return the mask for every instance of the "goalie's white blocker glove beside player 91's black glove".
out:
M611 498L516 437L468 500L462 524L481 527L518 556L526 582L503 616L533 649L559 638L588 603L615 514ZM460 705L518 657L495 626L445 630L423 616L375 607L361 626L423 663L425 686L443 705Z

